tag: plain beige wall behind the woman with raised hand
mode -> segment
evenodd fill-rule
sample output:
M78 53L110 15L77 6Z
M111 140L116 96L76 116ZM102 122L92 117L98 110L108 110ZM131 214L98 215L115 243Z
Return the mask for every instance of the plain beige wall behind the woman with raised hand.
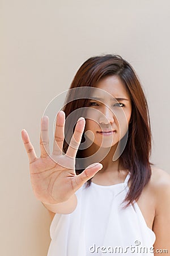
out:
M147 94L152 162L169 170L169 1L1 1L1 255L46 256L50 217L33 195L20 137L39 156L46 105L69 88L80 64L117 53Z

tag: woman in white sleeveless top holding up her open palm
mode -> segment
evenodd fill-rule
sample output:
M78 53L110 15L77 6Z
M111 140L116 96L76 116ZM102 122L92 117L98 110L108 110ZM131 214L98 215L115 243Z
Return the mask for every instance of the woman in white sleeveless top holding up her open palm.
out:
M83 63L57 114L52 154L46 116L41 133L40 158L25 130L22 138L33 192L57 213L48 256L170 255L170 177L149 161L147 102L128 61Z

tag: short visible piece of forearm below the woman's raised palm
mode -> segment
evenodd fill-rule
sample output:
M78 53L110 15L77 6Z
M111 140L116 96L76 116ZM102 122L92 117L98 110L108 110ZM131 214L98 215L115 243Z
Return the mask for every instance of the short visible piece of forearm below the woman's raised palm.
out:
M54 213L59 213L59 214L69 214L73 212L76 208L77 205L77 199L76 195L73 194L73 196L70 197L69 200L63 202L63 203L58 203L58 204L46 204L44 202L41 202L44 207L51 212Z

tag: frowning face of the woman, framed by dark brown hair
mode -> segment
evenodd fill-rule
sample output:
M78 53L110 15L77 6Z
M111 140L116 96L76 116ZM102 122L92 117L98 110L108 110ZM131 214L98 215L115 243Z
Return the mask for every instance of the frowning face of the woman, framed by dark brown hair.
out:
M108 76L95 85L86 118L85 135L99 147L112 147L124 137L131 117L131 101L118 76ZM101 99L102 102L99 101Z

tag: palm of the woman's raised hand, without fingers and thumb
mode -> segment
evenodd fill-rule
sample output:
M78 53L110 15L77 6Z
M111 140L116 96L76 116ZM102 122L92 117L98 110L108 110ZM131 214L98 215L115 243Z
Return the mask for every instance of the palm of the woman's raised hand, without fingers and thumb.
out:
M75 171L62 167L50 156L37 159L30 164L29 170L33 191L40 201L54 203L60 202L61 198L65 201L74 193L72 180Z

